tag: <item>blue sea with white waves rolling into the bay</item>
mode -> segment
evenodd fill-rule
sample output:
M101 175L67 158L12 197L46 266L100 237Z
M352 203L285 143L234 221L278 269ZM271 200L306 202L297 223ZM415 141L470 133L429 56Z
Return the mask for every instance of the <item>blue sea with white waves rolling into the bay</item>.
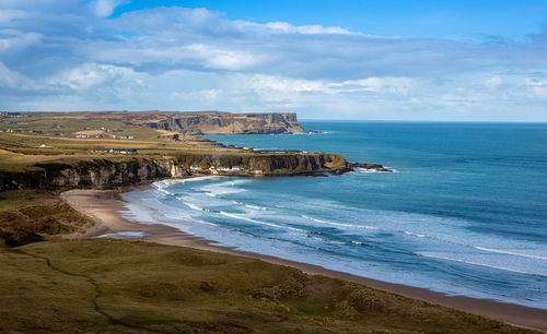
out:
M303 126L325 133L209 138L397 172L165 180L125 193L125 214L240 250L547 309L547 124Z

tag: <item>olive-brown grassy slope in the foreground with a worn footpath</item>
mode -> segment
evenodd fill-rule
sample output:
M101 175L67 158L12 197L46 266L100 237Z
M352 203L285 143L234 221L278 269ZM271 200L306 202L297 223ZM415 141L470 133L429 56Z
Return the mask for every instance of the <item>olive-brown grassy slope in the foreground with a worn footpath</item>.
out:
M299 270L140 241L0 250L0 331L525 333Z

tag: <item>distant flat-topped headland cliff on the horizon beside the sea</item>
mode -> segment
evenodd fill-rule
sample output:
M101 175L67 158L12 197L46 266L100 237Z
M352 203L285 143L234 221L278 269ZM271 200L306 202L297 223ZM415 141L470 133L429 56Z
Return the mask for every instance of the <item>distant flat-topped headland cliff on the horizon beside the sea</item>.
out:
M144 112L131 122L184 134L290 134L307 132L298 121L296 114L293 112Z

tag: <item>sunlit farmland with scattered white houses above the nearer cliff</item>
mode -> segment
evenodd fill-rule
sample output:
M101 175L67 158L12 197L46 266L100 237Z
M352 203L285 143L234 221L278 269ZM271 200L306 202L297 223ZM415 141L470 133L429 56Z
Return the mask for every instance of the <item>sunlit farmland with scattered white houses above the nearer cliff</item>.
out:
M143 154L220 150L214 143L195 136L181 134L181 141L162 138L176 133L133 123L138 112L27 112L24 116L0 117L0 148L38 155L95 154L96 148L137 148ZM77 134L90 134L90 138L77 138ZM97 134L103 138L96 138ZM132 139L120 139L125 136ZM50 147L33 147L38 144Z

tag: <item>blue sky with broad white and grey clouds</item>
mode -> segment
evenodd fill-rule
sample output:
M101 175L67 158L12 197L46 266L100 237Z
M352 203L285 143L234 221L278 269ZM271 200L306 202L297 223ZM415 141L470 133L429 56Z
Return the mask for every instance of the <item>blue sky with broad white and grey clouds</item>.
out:
M0 110L547 121L547 1L1 0Z

